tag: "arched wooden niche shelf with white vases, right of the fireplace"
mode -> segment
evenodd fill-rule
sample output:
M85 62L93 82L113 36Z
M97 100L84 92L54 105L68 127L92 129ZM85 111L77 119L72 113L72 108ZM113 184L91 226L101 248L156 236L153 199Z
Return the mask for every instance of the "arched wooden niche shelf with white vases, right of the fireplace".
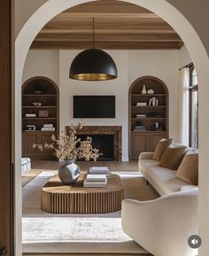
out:
M145 91L143 88L145 87ZM152 90L152 93L148 93ZM128 90L129 159L142 151L155 151L161 138L169 135L168 89L154 76L136 79Z

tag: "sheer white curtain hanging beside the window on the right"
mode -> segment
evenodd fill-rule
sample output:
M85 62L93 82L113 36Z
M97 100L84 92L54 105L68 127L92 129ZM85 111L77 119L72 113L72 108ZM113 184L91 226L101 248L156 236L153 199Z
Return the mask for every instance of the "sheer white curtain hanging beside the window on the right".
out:
M179 80L179 139L180 143L189 146L189 86L190 69L185 67L180 71Z

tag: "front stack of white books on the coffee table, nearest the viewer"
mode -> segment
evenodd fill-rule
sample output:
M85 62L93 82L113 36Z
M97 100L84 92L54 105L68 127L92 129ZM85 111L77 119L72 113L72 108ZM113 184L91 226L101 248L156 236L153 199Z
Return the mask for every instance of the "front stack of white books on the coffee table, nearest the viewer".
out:
M105 188L107 184L106 175L87 175L83 182L84 188Z

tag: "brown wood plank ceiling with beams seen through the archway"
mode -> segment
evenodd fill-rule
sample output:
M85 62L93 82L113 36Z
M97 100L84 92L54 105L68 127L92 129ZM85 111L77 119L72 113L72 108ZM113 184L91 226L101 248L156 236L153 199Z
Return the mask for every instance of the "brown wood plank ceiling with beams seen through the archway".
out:
M135 4L102 0L58 14L35 37L31 49L180 49L182 39L158 15Z

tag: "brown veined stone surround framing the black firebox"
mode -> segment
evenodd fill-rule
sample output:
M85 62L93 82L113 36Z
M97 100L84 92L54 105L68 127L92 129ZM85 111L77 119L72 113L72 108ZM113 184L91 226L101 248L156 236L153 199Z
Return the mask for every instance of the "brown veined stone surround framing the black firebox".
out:
M77 131L78 135L113 135L114 136L114 160L121 161L121 126L84 126ZM69 126L66 126L68 134Z

